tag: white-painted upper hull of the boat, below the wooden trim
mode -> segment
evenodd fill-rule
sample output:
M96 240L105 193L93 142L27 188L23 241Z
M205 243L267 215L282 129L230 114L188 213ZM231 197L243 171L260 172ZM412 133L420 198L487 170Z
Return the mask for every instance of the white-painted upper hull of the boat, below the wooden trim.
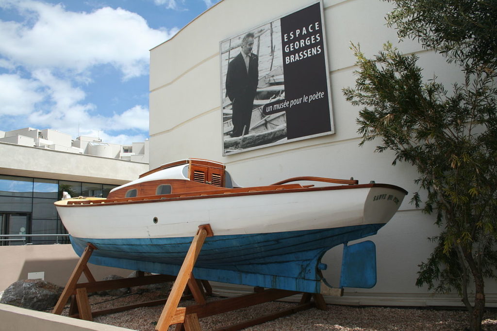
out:
M74 237L172 238L192 236L202 224L223 236L386 223L403 198L394 188L367 187L57 209Z

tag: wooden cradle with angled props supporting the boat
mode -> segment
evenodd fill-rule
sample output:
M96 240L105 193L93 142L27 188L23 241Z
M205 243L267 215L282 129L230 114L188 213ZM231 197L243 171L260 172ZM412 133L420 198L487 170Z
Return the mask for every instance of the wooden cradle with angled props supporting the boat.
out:
M322 294L319 293L304 293L298 291L288 291L280 289L263 289L255 287L254 293L246 294L238 297L225 298L206 303L205 294L212 294L212 288L208 281L197 280L192 274L193 266L200 253L205 238L213 236L212 229L209 224L199 226L199 230L193 237L190 248L181 265L177 276L171 275L151 275L145 276L143 272L139 272L138 277L124 278L116 280L96 281L91 274L87 262L91 253L97 248L91 243L88 243L83 254L81 255L78 264L69 277L69 280L62 292L57 304L52 311L53 314L60 315L64 306L71 298L69 309L70 317L80 318L87 321L92 321L93 317L114 314L117 312L134 309L138 307L149 307L165 304L159 321L156 325L156 330L166 331L170 325L176 325L176 331L200 331L199 318L212 315L222 314L229 311L246 308L258 305L265 302L270 302L282 299L288 296L302 293L300 303L293 308L283 310L277 313L268 314L253 320L243 323L231 325L219 330L241 330L249 326L265 323L274 319L295 314L297 312L316 307L320 310L327 310L326 302ZM81 275L84 273L88 282L78 283ZM111 308L100 311L91 311L88 292L96 292L109 289L117 289L122 287L132 287L139 285L147 285L161 283L174 280L169 296L166 300L155 300L117 308ZM188 286L191 296L184 296L186 286ZM180 300L193 297L197 302L196 305L188 307L178 307ZM314 301L311 301L311 298Z

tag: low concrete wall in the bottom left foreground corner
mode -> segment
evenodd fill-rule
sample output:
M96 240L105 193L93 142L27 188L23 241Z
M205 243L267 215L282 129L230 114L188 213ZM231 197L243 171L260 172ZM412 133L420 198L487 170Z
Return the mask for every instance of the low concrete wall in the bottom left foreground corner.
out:
M125 331L105 324L0 304L0 331Z

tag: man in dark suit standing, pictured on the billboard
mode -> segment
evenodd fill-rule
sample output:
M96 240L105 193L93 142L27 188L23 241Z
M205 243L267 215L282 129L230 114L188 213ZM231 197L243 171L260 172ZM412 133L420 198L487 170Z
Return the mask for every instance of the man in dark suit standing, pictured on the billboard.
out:
M232 137L248 133L252 116L253 99L259 80L259 60L252 53L254 34L248 33L242 40L242 51L228 65L226 94L232 102Z

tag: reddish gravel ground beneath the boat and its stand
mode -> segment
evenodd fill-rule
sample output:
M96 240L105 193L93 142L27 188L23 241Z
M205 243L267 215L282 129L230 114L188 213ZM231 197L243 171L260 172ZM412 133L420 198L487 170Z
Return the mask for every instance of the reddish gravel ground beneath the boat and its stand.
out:
M133 303L165 299L161 293L130 294L123 297L90 296L91 309L99 310ZM210 297L207 301L219 300ZM193 300L182 301L180 306L195 304ZM200 319L202 330L215 330L279 310L292 308L296 303L269 302L257 306L239 309L216 316ZM100 316L97 323L123 328L154 331L164 306L142 307L125 312ZM68 309L63 312L67 315ZM497 331L497 310L486 313L484 330ZM328 311L309 309L271 322L259 324L245 330L257 331L457 331L467 328L467 312L463 310L434 310L385 307L351 307L328 305ZM169 328L170 331L174 327Z

